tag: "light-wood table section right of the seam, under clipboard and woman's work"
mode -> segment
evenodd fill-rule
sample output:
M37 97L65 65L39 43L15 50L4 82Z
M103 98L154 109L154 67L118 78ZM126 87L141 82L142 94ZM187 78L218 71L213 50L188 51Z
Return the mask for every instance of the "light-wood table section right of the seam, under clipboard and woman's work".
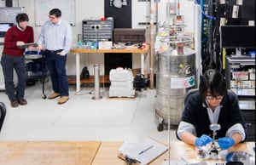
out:
M111 141L103 141L99 151L96 154L96 157L92 163L92 165L125 165L125 161L118 157L119 155L119 147L123 144L123 142L111 142ZM167 144L167 143L166 143ZM254 143L255 144L255 143ZM195 146L186 145L182 141L171 141L170 142L170 153L166 151L163 155L159 156L150 165L160 165L165 160L182 162L182 157L187 161L195 162L196 152ZM229 151L248 151L247 143L241 143L235 145L230 148ZM223 160L207 160L207 162L218 162ZM172 163L171 163L172 164ZM175 163L176 164L176 163ZM214 163L215 165L215 163Z

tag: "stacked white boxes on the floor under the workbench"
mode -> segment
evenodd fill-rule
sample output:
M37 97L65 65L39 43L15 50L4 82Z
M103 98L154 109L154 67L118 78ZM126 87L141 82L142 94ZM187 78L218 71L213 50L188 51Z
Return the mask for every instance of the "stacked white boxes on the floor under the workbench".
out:
M109 97L134 97L132 71L123 68L112 69L109 72Z

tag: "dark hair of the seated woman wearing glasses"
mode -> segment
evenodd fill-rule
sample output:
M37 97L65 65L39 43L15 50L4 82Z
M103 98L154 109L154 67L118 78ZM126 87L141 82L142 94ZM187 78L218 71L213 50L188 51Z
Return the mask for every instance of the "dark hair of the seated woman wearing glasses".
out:
M227 84L219 71L210 69L201 77L199 93L202 101L206 99L208 90L210 90L213 97L218 95L225 96L227 94Z

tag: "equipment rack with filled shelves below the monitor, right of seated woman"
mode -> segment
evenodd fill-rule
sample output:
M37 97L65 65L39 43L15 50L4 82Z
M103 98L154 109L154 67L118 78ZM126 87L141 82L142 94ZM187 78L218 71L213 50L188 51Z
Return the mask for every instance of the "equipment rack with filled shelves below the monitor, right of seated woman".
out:
M255 57L227 56L225 80L239 99L247 141L255 141Z

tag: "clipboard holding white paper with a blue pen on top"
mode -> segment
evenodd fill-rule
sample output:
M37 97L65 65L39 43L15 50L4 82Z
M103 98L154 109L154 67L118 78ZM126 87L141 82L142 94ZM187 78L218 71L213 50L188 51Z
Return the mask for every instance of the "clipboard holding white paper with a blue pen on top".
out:
M168 151L167 145L151 138L144 139L142 142L131 144L127 147L121 147L118 157L127 162L126 156L129 156L129 159L133 160L134 163L132 164L134 165L149 164Z

